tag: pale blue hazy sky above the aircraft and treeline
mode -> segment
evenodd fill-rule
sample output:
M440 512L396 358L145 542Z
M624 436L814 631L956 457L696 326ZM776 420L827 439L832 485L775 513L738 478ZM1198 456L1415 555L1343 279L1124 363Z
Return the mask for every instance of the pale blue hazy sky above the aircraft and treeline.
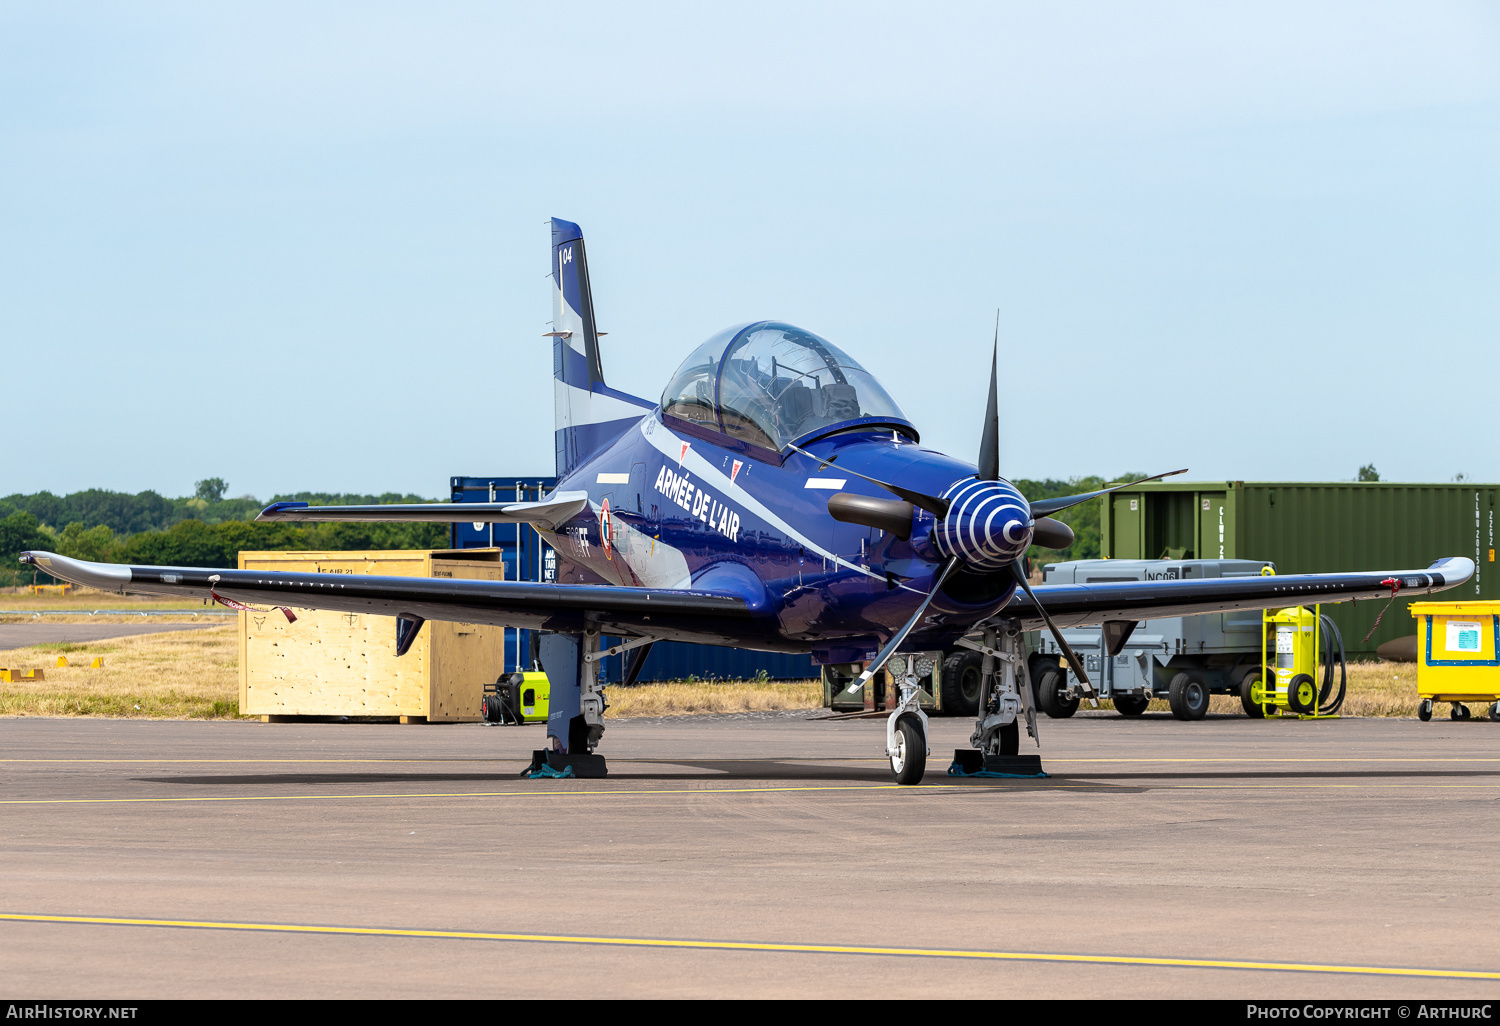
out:
M552 468L774 316L1002 471L1500 480L1494 3L0 3L0 495Z

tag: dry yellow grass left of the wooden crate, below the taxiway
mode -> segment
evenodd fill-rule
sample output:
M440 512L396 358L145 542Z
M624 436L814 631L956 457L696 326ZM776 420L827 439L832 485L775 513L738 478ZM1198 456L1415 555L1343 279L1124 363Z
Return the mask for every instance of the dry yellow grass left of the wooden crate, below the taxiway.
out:
M69 666L57 668L58 654ZM104 656L102 669L90 669ZM0 666L40 668L36 684L0 681L0 716L234 718L240 714L234 621L204 630L102 642L46 644L0 652Z

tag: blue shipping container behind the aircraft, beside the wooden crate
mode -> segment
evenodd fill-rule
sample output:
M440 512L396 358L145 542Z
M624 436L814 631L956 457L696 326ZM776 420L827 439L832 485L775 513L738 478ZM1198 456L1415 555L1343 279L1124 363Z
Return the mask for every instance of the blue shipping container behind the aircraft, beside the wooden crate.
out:
M452 478L454 502L536 502L556 488L555 477L454 477ZM506 564L506 580L556 579L552 546L542 540L534 528L525 524L454 524L450 546L454 549L500 549ZM538 669L536 645L538 632L506 628L506 672ZM620 639L606 639L616 645ZM630 652L602 660L600 676L620 681L624 676ZM651 646L642 681L698 680L746 681L765 674L772 681L801 681L816 678L819 670L812 656L788 656L786 652L753 652L722 645L688 645L686 642L658 642Z

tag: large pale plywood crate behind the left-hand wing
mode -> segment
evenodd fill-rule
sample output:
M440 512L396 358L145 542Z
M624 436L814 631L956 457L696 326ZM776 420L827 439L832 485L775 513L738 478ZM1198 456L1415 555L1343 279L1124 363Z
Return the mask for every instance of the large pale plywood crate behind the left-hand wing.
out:
M498 549L242 552L242 570L502 580ZM402 723L483 718L502 669L500 627L428 621L396 657L396 618L297 609L240 612L243 716L399 716Z

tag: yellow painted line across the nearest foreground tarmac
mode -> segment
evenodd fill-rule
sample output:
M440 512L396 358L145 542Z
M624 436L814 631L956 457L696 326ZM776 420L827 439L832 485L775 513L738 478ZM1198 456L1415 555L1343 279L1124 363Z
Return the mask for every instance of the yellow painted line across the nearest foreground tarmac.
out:
M250 933L312 933L442 940L512 940L522 944L578 944L616 948L690 948L708 951L768 951L795 954L904 956L918 958L976 958L988 962L1072 962L1110 966L1172 966L1185 969L1262 969L1270 972L1356 974L1365 976L1440 976L1444 980L1500 980L1500 972L1474 969L1420 969L1408 966L1340 966L1302 962L1239 962L1232 958L1152 958L1144 956L1058 954L1044 951L968 951L963 948L885 948L836 944L762 944L754 940L674 940L664 938L590 938L558 933L480 933L471 930L394 930L386 927L297 926L291 922L212 922L202 920L126 920L96 915L24 915L0 912L14 922L74 922L84 926L177 927Z

